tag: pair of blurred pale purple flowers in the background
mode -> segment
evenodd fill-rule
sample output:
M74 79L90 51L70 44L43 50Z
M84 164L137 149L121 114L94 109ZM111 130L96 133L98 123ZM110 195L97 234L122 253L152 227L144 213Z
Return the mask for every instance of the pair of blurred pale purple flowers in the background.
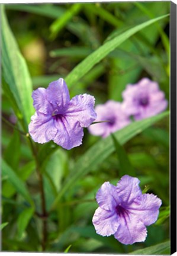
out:
M107 122L89 126L89 132L92 135L107 137L129 124L130 116L133 116L134 120L155 116L165 110L167 105L168 101L165 100L157 82L143 78L137 84L127 85L123 91L123 103L110 100L97 105L95 121Z

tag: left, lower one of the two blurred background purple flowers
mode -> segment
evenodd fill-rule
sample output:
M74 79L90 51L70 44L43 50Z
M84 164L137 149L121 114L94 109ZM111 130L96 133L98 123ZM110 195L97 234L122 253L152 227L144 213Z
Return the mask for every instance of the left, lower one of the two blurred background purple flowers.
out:
M130 119L123 110L121 103L113 100L109 100L105 104L96 105L95 112L97 114L95 121L108 122L89 126L89 132L92 135L107 137L110 133L114 133L130 123Z

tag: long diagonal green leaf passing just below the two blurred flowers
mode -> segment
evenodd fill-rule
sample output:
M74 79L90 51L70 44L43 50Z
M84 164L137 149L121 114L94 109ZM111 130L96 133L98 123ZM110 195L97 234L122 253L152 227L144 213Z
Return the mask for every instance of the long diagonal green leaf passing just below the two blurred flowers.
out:
M134 121L130 125L124 127L124 129L115 132L114 136L120 142L120 144L123 145L132 137L141 133L147 127L151 126L153 123L159 121L168 114L169 111L166 111L148 119ZM76 164L72 169L72 175L70 175L65 184L63 184L62 190L60 190L60 193L57 195L54 203L52 204L52 209L56 208L60 198L63 196L63 194L66 193L67 190L75 185L76 181L81 179L84 175L88 174L91 169L98 167L101 162L103 162L112 152L114 152L114 149L115 148L112 143L111 136L108 136L105 139L101 139L98 143L89 148L88 151L83 154L78 161L76 161Z

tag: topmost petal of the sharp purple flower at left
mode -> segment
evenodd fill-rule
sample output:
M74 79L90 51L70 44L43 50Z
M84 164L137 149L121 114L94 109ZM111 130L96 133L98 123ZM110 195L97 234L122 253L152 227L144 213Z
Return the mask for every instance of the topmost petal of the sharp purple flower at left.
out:
M51 82L46 89L47 100L53 105L54 110L60 110L60 114L66 110L69 104L69 91L63 78Z

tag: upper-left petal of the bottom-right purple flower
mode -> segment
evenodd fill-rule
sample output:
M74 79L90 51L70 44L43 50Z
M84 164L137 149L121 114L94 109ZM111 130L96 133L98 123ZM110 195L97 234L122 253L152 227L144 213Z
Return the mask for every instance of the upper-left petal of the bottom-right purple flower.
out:
M113 210L120 203L116 187L109 182L102 184L96 194L96 201L102 209Z

